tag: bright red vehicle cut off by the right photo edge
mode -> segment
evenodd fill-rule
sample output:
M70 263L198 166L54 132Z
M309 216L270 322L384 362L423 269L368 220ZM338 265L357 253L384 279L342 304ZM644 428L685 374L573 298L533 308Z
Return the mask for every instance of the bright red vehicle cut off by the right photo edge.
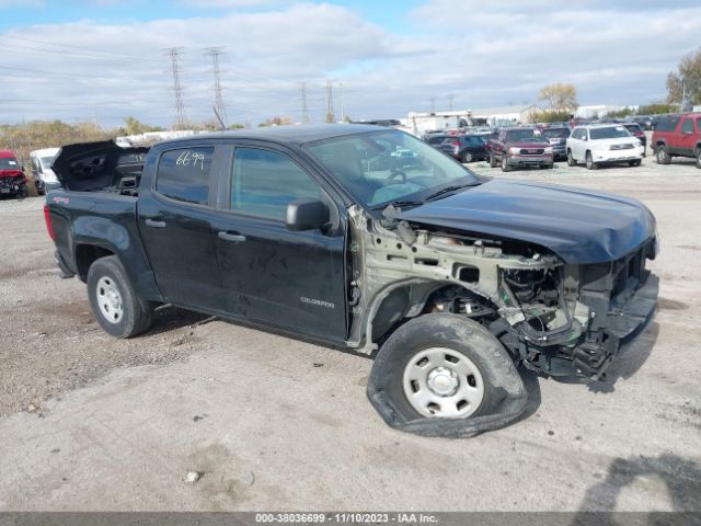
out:
M701 168L701 113L668 115L659 119L651 146L659 164L674 157L692 157Z

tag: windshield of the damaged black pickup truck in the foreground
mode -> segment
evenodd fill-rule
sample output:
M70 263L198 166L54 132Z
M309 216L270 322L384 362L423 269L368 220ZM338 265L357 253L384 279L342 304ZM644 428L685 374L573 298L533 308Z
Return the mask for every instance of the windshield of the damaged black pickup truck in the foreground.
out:
M399 130L335 137L308 148L366 207L421 201L443 187L479 184L470 170Z

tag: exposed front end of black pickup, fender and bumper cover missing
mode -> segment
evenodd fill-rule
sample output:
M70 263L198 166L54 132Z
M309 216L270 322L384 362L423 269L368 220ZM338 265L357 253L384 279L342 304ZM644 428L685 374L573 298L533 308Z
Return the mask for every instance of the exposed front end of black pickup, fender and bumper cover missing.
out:
M531 243L384 216L349 209L348 345L360 353L407 319L451 312L487 328L529 369L596 379L654 309L657 279L645 260L655 238L621 260L574 265Z

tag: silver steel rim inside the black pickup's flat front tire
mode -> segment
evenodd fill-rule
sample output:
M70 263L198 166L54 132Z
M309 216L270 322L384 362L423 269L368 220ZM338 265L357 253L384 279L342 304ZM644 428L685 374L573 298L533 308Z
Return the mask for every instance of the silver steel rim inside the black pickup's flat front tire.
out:
M475 363L448 347L429 347L412 356L402 387L412 408L428 418L464 419L484 400L484 379Z

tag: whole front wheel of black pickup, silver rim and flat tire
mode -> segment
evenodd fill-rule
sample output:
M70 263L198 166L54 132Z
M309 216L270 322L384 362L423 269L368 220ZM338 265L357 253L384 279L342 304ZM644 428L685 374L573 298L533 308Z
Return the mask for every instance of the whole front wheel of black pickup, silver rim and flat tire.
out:
M440 313L415 318L389 338L372 365L368 397L390 425L436 436L441 425L464 431L486 419L491 428L502 426L522 412L526 391L490 331Z

